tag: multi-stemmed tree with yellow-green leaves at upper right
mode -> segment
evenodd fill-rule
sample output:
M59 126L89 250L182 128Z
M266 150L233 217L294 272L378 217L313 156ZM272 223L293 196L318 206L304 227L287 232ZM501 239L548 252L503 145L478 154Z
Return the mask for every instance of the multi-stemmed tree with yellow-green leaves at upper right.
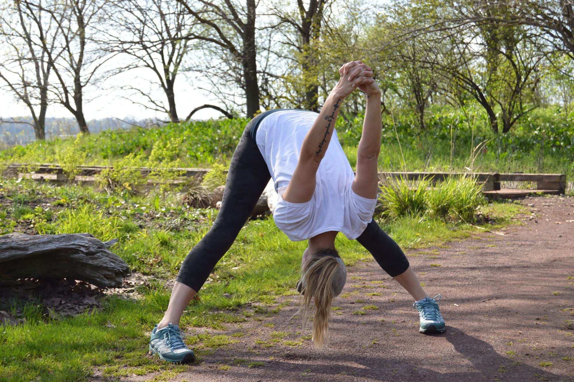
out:
M539 36L531 30L485 23L492 15L505 13L504 9L495 13L491 3L420 0L402 4L417 7L420 10L409 9L410 14L424 17L417 19L416 28L403 30L400 40L420 37L420 50L425 52L420 64L441 76L441 92L461 105L460 90L470 94L486 111L491 129L498 133L500 118L506 133L537 107L538 67L544 55L533 49Z

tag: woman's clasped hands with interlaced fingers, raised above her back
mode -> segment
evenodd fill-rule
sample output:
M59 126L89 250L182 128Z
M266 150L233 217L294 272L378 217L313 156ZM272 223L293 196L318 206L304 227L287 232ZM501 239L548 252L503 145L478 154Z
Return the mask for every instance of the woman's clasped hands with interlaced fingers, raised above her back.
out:
M335 89L343 97L347 97L355 89L359 89L367 96L380 94L379 86L373 79L373 69L363 61L350 61L339 69L341 78Z

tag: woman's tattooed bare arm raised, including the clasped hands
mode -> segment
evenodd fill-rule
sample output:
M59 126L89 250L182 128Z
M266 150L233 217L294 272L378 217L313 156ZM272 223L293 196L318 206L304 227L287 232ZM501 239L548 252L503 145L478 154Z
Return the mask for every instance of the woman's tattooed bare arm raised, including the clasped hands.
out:
M282 195L286 202L305 203L311 200L316 187L315 175L331 142L341 103L357 87L374 82L371 68L360 61L343 65L339 74L339 82L327 97L319 116L303 140L297 167Z

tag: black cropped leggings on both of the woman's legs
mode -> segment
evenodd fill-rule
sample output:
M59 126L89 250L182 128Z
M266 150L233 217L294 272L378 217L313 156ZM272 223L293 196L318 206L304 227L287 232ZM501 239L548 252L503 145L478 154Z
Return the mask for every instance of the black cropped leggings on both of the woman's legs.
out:
M196 292L235 241L271 179L267 164L255 144L255 132L258 122L273 111L259 114L247 124L231 158L219 214L209 232L193 247L181 264L176 280ZM409 261L401 248L374 219L356 240L390 276L400 275L409 267Z

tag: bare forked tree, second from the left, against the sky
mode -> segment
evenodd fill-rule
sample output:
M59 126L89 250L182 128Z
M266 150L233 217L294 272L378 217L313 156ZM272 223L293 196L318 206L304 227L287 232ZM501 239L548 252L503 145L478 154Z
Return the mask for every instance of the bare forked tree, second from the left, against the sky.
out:
M84 117L84 88L95 81L100 67L111 58L94 43L93 24L99 22L105 1L64 0L46 5L42 2L17 0L30 15L30 22L41 31L38 43L45 59L56 76L56 83L49 92L56 103L64 106L76 118L80 132L90 133ZM48 14L42 19L37 11ZM43 31L45 23L51 22L58 31L54 49L48 45L51 40ZM93 31L93 32L92 32Z

